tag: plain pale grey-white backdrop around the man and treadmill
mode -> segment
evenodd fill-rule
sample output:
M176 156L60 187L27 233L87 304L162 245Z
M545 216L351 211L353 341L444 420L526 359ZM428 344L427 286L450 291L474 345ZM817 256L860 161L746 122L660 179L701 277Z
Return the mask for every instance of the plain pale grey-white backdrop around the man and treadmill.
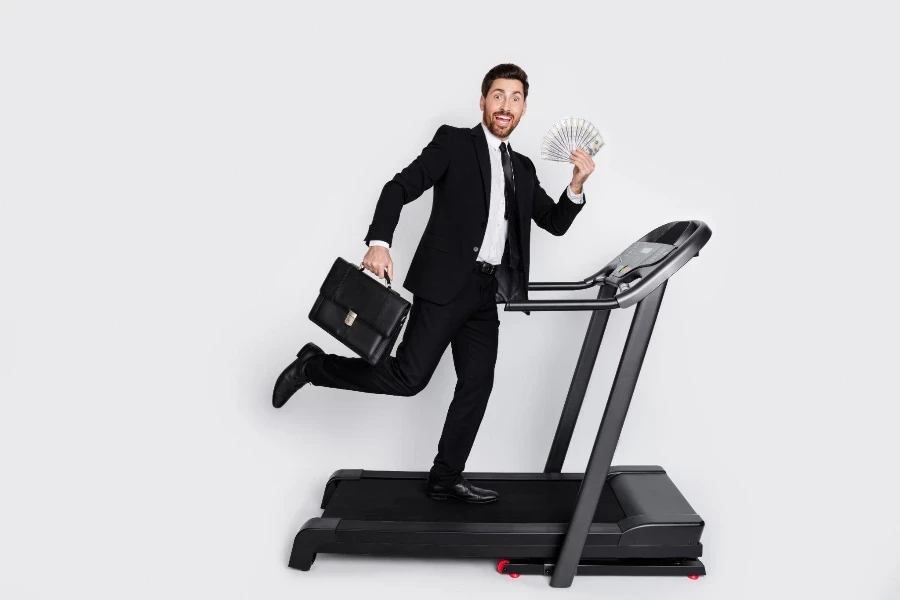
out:
M0 3L0 597L900 597L896 23L887 2ZM412 398L274 410L272 385L307 341L346 354L307 318L318 285L437 127L478 123L501 62L528 72L511 141L551 196L550 125L606 140L569 232L534 228L533 280L668 221L713 230L615 458L663 465L703 516L700 581L286 566L332 471L431 464L449 352ZM402 213L401 283L430 202ZM501 312L469 470L542 469L588 317Z

